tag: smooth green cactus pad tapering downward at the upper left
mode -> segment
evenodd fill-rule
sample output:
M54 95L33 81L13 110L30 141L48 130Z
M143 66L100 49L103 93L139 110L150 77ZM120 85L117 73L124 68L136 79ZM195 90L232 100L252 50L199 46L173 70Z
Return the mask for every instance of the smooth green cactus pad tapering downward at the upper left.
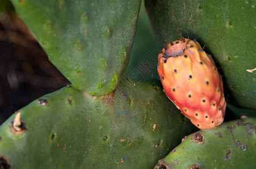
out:
M141 1L19 1L49 60L90 95L112 92L129 63Z

